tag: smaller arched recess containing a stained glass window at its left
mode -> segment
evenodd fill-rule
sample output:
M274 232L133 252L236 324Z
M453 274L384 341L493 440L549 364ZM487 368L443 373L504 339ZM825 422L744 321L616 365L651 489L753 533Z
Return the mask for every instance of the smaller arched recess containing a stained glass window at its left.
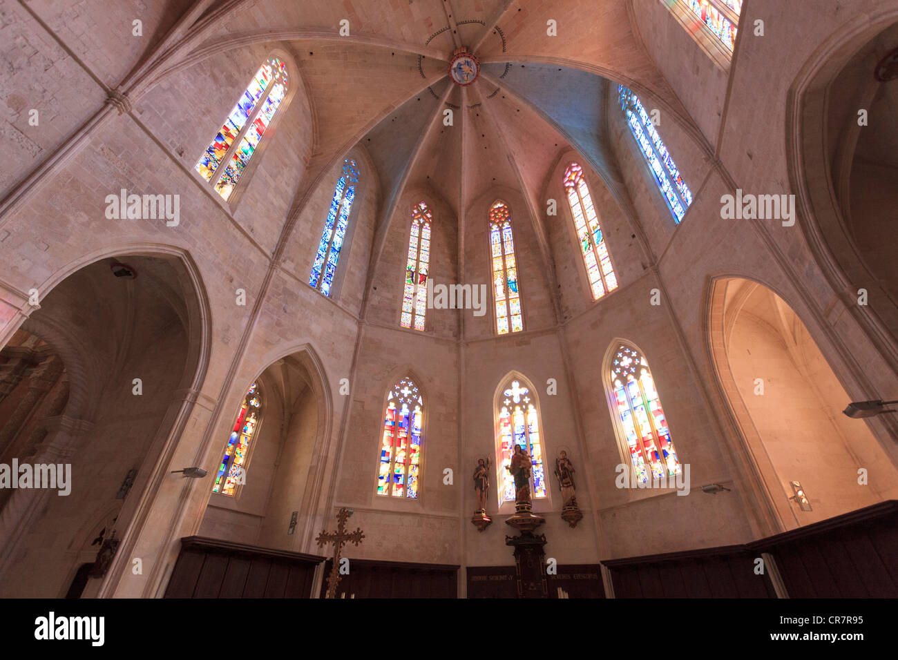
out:
M210 486L214 492L198 535L277 550L312 550L322 488L320 441L328 417L320 365L311 349L304 348L275 360L241 387L254 392L259 404L251 436L245 433L249 429L242 409L228 412L234 442L246 444L242 476L217 491ZM230 442L225 436L213 445L213 477L223 462L225 472L233 473Z

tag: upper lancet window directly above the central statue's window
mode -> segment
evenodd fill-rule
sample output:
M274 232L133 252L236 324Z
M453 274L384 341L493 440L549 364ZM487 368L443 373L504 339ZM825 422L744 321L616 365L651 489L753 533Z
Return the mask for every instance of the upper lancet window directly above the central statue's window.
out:
M511 212L505 202L489 208L489 248L493 259L493 295L496 298L496 332L500 335L524 330L521 295L517 286L515 240Z

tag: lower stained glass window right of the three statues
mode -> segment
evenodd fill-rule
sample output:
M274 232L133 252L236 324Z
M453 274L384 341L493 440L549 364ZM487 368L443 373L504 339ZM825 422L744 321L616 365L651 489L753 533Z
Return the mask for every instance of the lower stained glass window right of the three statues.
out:
M638 480L647 482L649 474L652 480L665 474L680 474L680 461L645 356L637 348L621 344L608 368L613 399Z

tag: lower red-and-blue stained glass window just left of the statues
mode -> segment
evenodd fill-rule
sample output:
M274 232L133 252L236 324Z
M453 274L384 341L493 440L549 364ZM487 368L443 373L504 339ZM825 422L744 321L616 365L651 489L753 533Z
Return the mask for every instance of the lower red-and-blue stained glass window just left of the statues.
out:
M418 497L423 425L424 400L418 386L410 378L403 378L390 391L383 415L378 495Z

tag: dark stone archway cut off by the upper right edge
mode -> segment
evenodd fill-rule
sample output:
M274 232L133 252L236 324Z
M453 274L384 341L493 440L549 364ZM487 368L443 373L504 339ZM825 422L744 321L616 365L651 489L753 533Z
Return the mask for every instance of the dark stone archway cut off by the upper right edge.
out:
M898 199L898 162L890 151L898 145L890 115L898 107L898 81L876 79L877 63L896 47L894 7L841 26L788 92L786 145L811 251L846 310L898 373L898 270L888 251Z

